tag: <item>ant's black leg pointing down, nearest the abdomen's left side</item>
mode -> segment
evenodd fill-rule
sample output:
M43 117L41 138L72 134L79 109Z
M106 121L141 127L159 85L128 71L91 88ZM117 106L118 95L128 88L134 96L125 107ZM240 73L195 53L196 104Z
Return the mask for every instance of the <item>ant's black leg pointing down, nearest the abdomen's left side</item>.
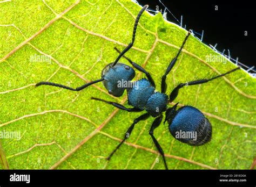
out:
M154 137L154 130L155 128L157 128L160 124L161 124L161 121L163 119L163 116L159 116L158 118L156 118L154 121L153 121L153 124L150 128L150 132L149 134L151 135L151 138L153 139L153 142L154 142L154 145L156 146L158 152L160 153L160 155L163 157L164 159L164 166L165 166L165 169L168 169L167 167L167 164L166 164L166 161L165 161L165 157L164 157L164 151L163 149L161 148L160 144L158 143L157 139Z

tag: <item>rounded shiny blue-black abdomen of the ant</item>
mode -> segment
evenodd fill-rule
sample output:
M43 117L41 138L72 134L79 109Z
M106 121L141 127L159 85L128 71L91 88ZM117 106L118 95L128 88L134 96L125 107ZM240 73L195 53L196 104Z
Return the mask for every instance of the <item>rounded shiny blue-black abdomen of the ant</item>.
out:
M169 122L169 131L172 136L183 143L201 146L211 140L210 122L193 106L180 107Z

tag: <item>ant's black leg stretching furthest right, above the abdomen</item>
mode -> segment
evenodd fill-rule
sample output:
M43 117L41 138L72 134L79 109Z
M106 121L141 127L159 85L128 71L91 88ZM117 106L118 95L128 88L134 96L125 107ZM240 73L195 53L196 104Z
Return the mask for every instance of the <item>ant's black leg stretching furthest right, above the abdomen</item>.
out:
M230 70L230 71L227 71L227 72L224 73L224 74L220 74L220 75L218 75L218 76L215 76L215 77L212 77L212 78L209 78L209 79L201 79L201 80L191 81L191 82L187 82L187 83L180 83L179 85L177 85L177 87L175 87L175 88L172 90L172 92L171 92L171 94L170 94L170 97L169 97L169 98L170 98L170 99L169 99L169 102L172 102L172 101L178 96L179 89L180 89L180 88L183 88L184 86L188 86L188 85L197 85L197 84L204 84L204 83L206 83L206 82L209 82L209 81L214 80L215 78L223 77L223 76L225 76L225 75L227 75L227 74L230 74L230 73L232 73L233 71L236 71L236 70L238 70L238 69L240 69L240 67L234 68L234 69L232 69L232 70Z

